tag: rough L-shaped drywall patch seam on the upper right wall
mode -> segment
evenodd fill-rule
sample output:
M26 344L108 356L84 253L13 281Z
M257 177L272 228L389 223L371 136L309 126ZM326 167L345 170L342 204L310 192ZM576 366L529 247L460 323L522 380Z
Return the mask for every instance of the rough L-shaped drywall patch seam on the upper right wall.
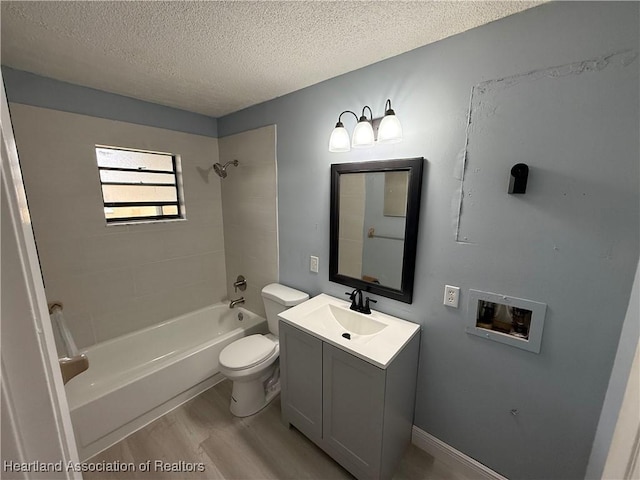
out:
M453 172L455 179L460 181L460 187L454 191L452 200L453 209L453 224L455 228L455 241L461 244L470 244L467 238L460 238L460 219L462 218L462 209L464 206L464 178L465 172L468 167L469 160L469 137L474 128L474 115L478 111L481 111L484 107L490 108L488 115L495 113L496 107L490 106L478 100L478 97L487 93L495 93L500 90L505 90L513 86L519 85L522 82L536 81L544 78L562 78L570 75L580 75L583 73L600 72L610 65L620 64L623 68L634 63L638 58L638 51L627 49L622 51L613 52L607 55L583 60L580 62L572 62L564 65L557 65L553 67L547 67L537 70L531 70L526 73L519 73L516 75L510 75L508 77L496 78L492 80L485 80L474 85L471 88L471 96L469 98L469 113L467 115L467 128L465 135L465 144L460 154L456 159L456 164ZM476 103L477 102L477 103ZM480 108L477 108L480 107ZM477 122L476 122L477 123ZM456 208L457 200L457 208Z

